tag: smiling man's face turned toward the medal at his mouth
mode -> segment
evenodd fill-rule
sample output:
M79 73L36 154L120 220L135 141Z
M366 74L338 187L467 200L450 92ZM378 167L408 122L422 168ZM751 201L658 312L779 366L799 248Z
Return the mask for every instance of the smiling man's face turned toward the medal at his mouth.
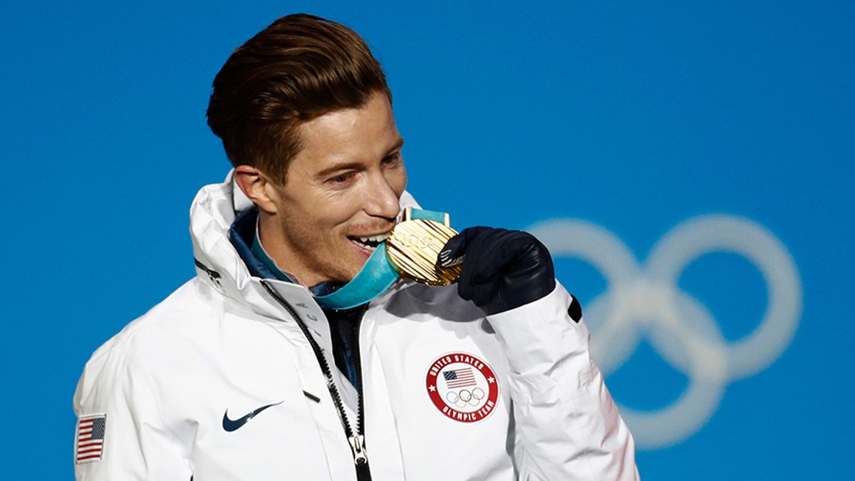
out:
M374 93L362 108L317 117L298 134L304 148L285 185L271 188L276 212L262 223L262 244L308 286L351 281L394 227L407 185L392 106Z

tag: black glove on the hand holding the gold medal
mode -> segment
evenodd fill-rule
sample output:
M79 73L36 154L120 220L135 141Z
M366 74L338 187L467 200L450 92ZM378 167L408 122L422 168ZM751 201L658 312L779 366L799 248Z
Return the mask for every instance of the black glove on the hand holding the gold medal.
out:
M462 262L457 294L488 315L539 300L555 288L549 251L522 230L463 229L445 243L437 264Z

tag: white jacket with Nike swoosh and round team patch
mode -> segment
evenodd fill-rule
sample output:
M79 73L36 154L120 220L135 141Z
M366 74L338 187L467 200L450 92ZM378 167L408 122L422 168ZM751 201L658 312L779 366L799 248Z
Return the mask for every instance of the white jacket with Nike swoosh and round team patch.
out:
M251 276L228 239L249 206L231 176L203 187L191 210L198 276L86 364L74 411L105 425L100 457L75 456L77 479L355 480L344 422L364 431L375 481L638 478L632 436L560 285L487 317L454 286L390 288L358 334L357 426L357 391L308 289Z

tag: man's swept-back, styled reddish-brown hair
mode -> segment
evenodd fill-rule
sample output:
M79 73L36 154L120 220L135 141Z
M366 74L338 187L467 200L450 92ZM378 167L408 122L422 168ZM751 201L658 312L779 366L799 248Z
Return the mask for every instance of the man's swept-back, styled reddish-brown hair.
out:
M234 166L284 184L302 149L298 127L392 93L356 32L314 15L286 15L234 50L214 79L208 125Z

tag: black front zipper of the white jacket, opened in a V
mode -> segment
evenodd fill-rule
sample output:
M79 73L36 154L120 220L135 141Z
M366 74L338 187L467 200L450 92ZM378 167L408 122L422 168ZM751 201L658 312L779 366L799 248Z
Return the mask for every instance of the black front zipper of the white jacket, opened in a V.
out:
M273 296L273 298L280 304L280 306L285 307L286 311L291 314L292 318L297 321L297 325L300 330L303 331L303 335L306 340L309 341L309 345L312 347L312 350L315 352L315 358L318 360L318 364L321 365L321 371L323 372L324 377L327 378L327 389L329 390L329 394L333 398L333 404L335 408L339 411L339 419L341 420L341 425L345 428L345 436L347 436L347 441L351 444L351 452L353 453L353 464L356 465L357 469L357 479L358 481L370 481L371 480L371 471L369 469L369 458L365 453L365 436L363 436L363 422L364 422L364 414L363 414L363 389L362 389L362 380L359 383L359 389L357 390L358 394L358 407L357 407L357 432L354 433L351 428L351 423L347 419L347 413L345 413L344 403L341 401L341 395L339 394L339 389L335 387L335 382L333 381L333 371L329 368L329 363L327 362L327 357L323 355L323 351L321 350L321 346L318 345L315 338L309 332L309 328L303 322L303 319L297 313L291 304L288 301L282 299L282 296L279 295L275 291L274 288L268 285L268 282L262 281L262 286L268 291L268 293ZM360 323L361 325L361 323ZM359 336L359 330L357 330L357 336ZM362 370L362 365L359 362L359 353L357 350L357 369Z

